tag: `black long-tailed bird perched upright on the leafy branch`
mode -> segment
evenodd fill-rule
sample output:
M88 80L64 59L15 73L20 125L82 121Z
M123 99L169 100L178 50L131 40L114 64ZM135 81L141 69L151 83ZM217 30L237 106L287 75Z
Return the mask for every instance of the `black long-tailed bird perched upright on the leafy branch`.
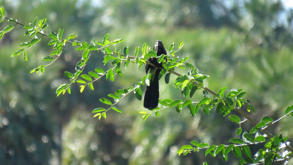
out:
M162 41L157 40L155 45L157 57L165 54L167 55L167 52L164 48L164 45ZM148 61L155 65L146 65L146 73L148 73L149 70L156 69L154 73L151 73L152 75L155 74L154 80L150 80L149 86L147 86L146 92L144 94L144 107L153 110L154 108L158 107L159 104L159 74L161 72L161 69L163 68L162 63L158 63L158 59L155 57L148 58Z

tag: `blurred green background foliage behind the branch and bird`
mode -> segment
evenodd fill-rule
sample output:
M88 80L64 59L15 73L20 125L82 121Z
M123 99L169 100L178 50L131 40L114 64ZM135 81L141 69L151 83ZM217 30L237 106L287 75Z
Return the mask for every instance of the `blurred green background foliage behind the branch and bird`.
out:
M221 87L242 88L246 99L255 106L253 119L263 116L277 119L293 104L292 20L289 1L280 0L0 0L6 16L23 24L47 18L46 29L64 35L76 33L78 41L125 39L117 48L129 45L130 52L145 42L153 46L162 40L168 48L184 41L176 55L189 57L188 62L210 76L205 85L214 91ZM7 22L0 23L3 29ZM45 73L29 74L44 64L41 58L52 52L49 38L23 57L10 55L22 42L25 29L17 26L0 41L0 164L238 164L230 153L228 162L204 152L186 156L177 150L191 141L229 144L236 136L237 124L212 110L191 117L175 108L160 112L143 122L139 111L143 102L134 94L125 98L107 119L93 118L91 111L103 104L99 101L117 89L133 86L145 71L132 65L123 69L124 78L115 82L100 80L95 90L79 92L74 84L71 95L56 97L55 90L69 80L64 71L74 72L82 53L68 46L61 59L46 68ZM131 54L130 53L130 54ZM107 68L103 54L93 53L86 72ZM142 67L143 68L143 67ZM187 74L182 70L178 72ZM160 99L185 99L172 82L160 81ZM143 89L145 87L142 87ZM202 97L198 90L193 99ZM236 112L231 114L238 115ZM243 118L242 118L243 119ZM243 131L252 125L244 123ZM269 128L293 141L292 116ZM262 145L252 146L253 152ZM292 163L292 162L291 162ZM276 163L277 164L277 163Z

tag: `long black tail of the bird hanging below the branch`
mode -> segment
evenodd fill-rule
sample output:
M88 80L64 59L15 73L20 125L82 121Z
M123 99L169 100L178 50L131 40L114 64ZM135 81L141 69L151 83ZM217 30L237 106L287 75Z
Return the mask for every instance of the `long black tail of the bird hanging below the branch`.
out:
M144 108L153 110L159 104L159 74L161 69L156 70L154 81L150 81L144 94Z

